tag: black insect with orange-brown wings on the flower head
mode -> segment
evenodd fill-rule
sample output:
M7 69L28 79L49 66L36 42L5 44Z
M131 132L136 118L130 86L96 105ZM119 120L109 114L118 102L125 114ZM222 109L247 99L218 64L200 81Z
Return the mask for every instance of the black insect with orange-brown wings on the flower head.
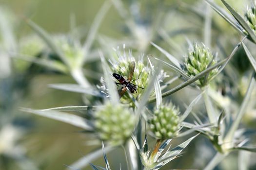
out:
M119 83L116 83L117 85L122 85L122 88L119 90L119 96L122 97L122 95L125 93L125 91L128 89L131 93L137 92L138 85L132 84L132 77L133 77L133 72L135 68L135 62L132 61L129 64L129 77L128 80L125 80L123 76L117 73L113 73L112 75L119 81ZM143 87L139 87L142 88Z

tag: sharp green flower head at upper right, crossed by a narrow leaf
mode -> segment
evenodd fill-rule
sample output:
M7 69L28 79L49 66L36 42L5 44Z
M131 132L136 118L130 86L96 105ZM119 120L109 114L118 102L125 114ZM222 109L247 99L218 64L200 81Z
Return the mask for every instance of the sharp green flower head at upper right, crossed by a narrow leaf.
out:
M205 47L204 44L198 45L194 44L193 49L188 52L188 55L185 57L184 67L187 74L191 77L196 76L203 70L208 67L215 65L217 59L214 58L210 49ZM217 68L210 71L208 76L200 78L196 83L199 86L204 86L209 83L209 81L217 74Z

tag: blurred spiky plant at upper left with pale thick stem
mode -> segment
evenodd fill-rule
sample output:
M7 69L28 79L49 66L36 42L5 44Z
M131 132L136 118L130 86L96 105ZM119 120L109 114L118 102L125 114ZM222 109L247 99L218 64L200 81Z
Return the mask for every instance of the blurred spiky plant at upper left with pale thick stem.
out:
M109 1L106 1L102 5L88 32L86 40L82 44L80 40L72 36L72 34L51 35L32 20L27 19L27 24L35 31L48 48L44 48L40 51L40 53L42 53L42 57L40 58L30 56L27 53L21 53L22 49L20 53L14 54L14 57L71 75L81 87L91 88L91 84L84 76L83 66L90 60L89 55L93 51L91 47L94 43L95 36L110 6L111 3ZM33 48L33 46L31 46L31 48Z

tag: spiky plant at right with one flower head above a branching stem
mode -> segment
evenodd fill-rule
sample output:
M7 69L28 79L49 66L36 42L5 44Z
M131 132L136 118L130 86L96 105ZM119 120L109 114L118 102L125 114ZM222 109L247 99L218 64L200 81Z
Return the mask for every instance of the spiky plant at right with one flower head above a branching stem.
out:
M219 62L208 48L206 48L204 45L200 46L196 44L192 47L192 49L189 50L188 55L185 56L183 63L184 69L182 69L182 64L177 62L174 56L156 44L153 45L158 48L158 50L161 51L164 55L166 55L167 58L171 61L171 63L163 63L174 70L183 80L185 79L184 83L177 85L177 87L174 87L173 89L163 93L162 97L166 97L172 93L175 93L179 89L182 89L187 85L191 85L192 83L195 83L193 86L197 87L202 92L208 119L212 126L198 129L198 132L208 137L217 150L216 156L205 167L205 170L212 170L221 160L223 160L225 156L234 150L244 149L247 151L255 152L254 147L244 146L246 143L246 140L243 140L245 136L239 133L240 130L238 129L247 103L250 100L250 96L253 94L255 71L253 71L251 82L248 85L246 95L244 96L243 102L241 103L238 110L232 109L232 104L226 106L226 110L219 110L211 99L211 97L213 97L215 94L211 94L210 97L207 89L210 87L209 84L211 83L209 80L212 80L223 70L223 68L228 64L230 59L234 56L237 49L241 45L245 47L244 43L242 41L238 43L231 54L226 59ZM246 53L247 55L250 55L251 58L253 58L248 49L246 49ZM254 67L254 62L251 63ZM155 101L154 98L151 101ZM236 113L234 118L231 116L232 112ZM197 123L202 124L201 122L202 120L197 118ZM184 124L184 127L190 128L191 124L186 123Z

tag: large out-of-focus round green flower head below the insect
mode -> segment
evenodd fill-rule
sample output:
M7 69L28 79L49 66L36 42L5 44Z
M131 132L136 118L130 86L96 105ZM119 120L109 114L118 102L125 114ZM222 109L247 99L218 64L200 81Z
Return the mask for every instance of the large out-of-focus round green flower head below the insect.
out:
M132 135L136 116L121 104L107 102L104 108L95 113L94 125L101 140L116 146L124 144Z

